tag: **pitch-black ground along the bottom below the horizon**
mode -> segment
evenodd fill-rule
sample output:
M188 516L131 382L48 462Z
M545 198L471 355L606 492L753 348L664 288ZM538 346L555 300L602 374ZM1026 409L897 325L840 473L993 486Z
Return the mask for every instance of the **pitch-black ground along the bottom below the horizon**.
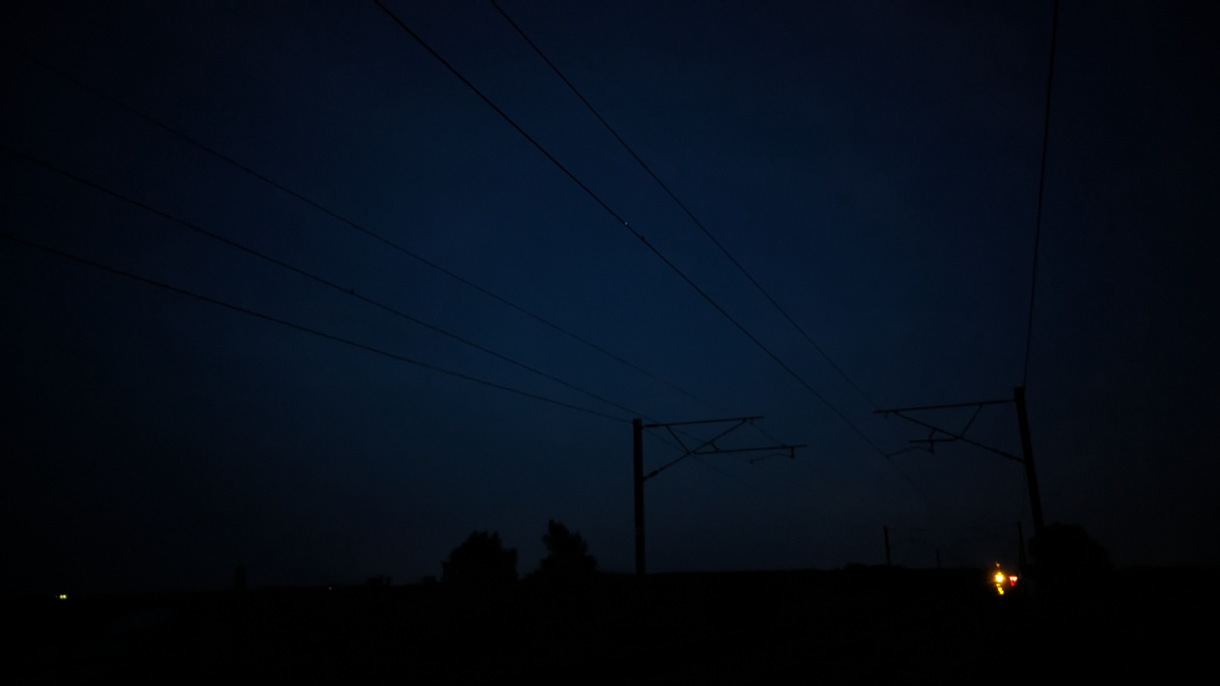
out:
M6 601L17 684L791 682L1186 676L1215 655L1210 570L1135 569L1086 597L980 570L603 577Z

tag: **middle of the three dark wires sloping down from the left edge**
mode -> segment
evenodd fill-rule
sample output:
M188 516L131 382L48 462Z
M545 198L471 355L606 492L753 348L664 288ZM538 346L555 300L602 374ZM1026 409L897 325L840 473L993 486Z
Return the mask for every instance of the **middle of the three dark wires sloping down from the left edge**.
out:
M451 338L454 341L458 341L459 343L464 343L466 345L470 345L471 348L475 348L477 350L487 353L488 355L492 355L494 358L504 360L504 361L506 361L506 363L509 363L511 365L516 365L516 366L518 366L518 367L521 367L521 369L523 369L526 371L529 371L532 374L542 376L543 378L548 378L550 381L554 381L555 383L560 383L562 386L566 386L567 388L571 388L572 391L577 391L580 393L583 393L583 394L588 395L589 398L593 398L595 400L599 400L599 402L605 403L605 404L608 404L610 406L614 406L616 409L631 413L631 414L637 415L637 416L645 416L642 413L639 413L638 410L634 410L634 409L628 408L626 405L615 403L614 400L610 400L608 398L598 395L597 393L593 393L590 391L586 391L584 388L581 388L580 386L576 386L573 383L569 383L567 381L564 381L562 378L559 378L558 376L553 376L553 375L547 374L547 372L544 372L542 370L534 369L534 367L532 367L532 366L529 366L529 365L527 365L525 363L517 361L517 360L515 360L515 359L512 359L512 358L510 358L508 355L504 355L501 353L497 353L495 350L492 350L489 348L479 345L478 343L475 343L475 342L468 341L468 339L466 339L466 338L464 338L461 336L458 336L456 333L451 333L449 331L445 331L444 328L440 328L439 326L428 323L428 322L426 322L423 320L420 320L417 317L414 317L414 316L411 316L411 315L409 315L409 314L406 314L406 312L404 312L401 310L394 309L394 308L392 308L389 305L386 305L384 303L375 300L375 299L372 299L372 298L370 298L367 295L362 295L360 293L356 293L354 288L344 288L344 287L339 286L338 283L334 283L333 281L326 280L326 278L323 278L321 276L311 273L309 271L305 271L305 270L303 270L300 267L295 267L293 265L289 265L288 262L283 262L281 260L277 260L276 258L272 258L272 256L270 256L267 254L260 253L260 251L257 251L257 250L255 250L253 248L243 245L242 243L238 243L235 240L232 240L232 239L226 238L223 236L220 236L217 233L212 233L211 231L207 231L206 228L203 228L203 227L200 227L198 225L194 225L194 223L192 223L192 222L189 222L187 220L183 220L183 218L179 218L179 217L177 217L174 215L171 215L170 212L159 210L159 209L152 208L150 205L146 205L146 204L144 204L144 203L142 203L139 200L135 200L135 199L133 199L131 197L123 195L122 193L118 193L116 190L111 190L110 188L106 188L106 187L99 186L96 183L93 183L92 181L88 181L85 178L76 176L72 172L61 170L61 168L59 168L59 167L56 167L54 165L50 165L50 164L48 164L48 162L45 162L43 160L39 160L38 157L34 157L32 155L27 155L24 153L18 151L18 150L13 150L12 148L9 148L7 145L5 145L2 143L0 143L0 150L4 150L6 153L9 153L10 155L15 155L15 156L21 157L23 160L27 160L27 161L29 161L32 164L39 165L41 167L45 167L45 168L48 168L50 171L54 171L54 172L56 172L56 173L59 173L61 176L71 178L72 181L76 181L76 182L82 183L84 186L88 186L89 188L93 188L95 190L100 190L101 193L106 193L107 195L111 195L112 198L116 198L116 199L122 200L124 203L135 205L137 208L140 208L143 210L152 212L152 214L155 214L155 215L157 215L157 216L160 216L162 218L170 220L170 221L172 221L172 222L174 222L177 225L181 225L181 226L183 226L185 228L189 228L190 231L194 231L196 233L206 236L206 237L209 237L209 238L211 238L214 240L218 240L221 243L224 243L226 245L229 245L232 248L237 248L238 250L242 250L244 253L254 255L254 256L256 256L256 258L259 258L261 260L266 260L266 261L268 261L268 262L271 262L273 265L277 265L279 267L283 267L285 270L295 272L295 273L298 273L300 276L304 276L306 278L314 280L314 281L316 281L316 282L318 282L318 283L321 283L323 286L327 286L329 288L333 288L333 289L343 293L344 295L355 298L357 300L364 300L365 303L368 303L370 305L375 305L377 308L381 308L382 310L384 310L384 311L387 311L387 312L389 312L392 315L395 315L398 317L405 319L405 320L407 320L410 322L414 322L414 323L416 323L418 326L422 326L425 328L434 331L434 332L437 332L437 333L439 333L442 336L447 336L447 337L449 337L449 338ZM653 421L651 417L647 417L645 416L645 419L649 419L649 421Z

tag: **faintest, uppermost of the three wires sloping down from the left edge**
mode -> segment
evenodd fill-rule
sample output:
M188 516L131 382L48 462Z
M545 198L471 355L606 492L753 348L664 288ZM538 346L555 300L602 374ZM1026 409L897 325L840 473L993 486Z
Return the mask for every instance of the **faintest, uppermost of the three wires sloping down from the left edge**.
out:
M661 377L656 376L655 374L653 374L653 372L650 372L650 371L640 367L639 365L637 365L634 363L625 360L623 358L621 358L621 356L611 353L610 350L606 350L605 348L598 345L597 343L593 343L593 342L590 342L590 341L588 341L588 339L586 339L586 338L583 338L583 337L581 337L581 336L578 336L576 333L572 333L571 331L569 331L569 330L559 326L558 323L554 323L550 320L547 320L545 317L543 317L540 315L537 315L537 314L534 314L534 312L525 309L523 306L517 305L516 303L514 303L514 301L511 301L511 300L509 300L509 299L506 299L506 298L504 298L504 297L501 297L501 295L499 295L497 293L493 293L492 291L489 291L489 289L487 289L487 288L484 288L482 286L478 286L477 283L475 283L475 282L472 282L472 281L470 281L470 280L467 280L467 278L465 278L462 276L459 276L458 273L455 273L455 272L453 272L453 271L450 271L450 270L448 270L448 269L445 269L445 267L443 267L443 266L433 262L432 260L428 260L427 258L423 258L422 255L420 255L417 253L414 253L414 251L409 250L407 248L405 248L405 247L403 247L403 245L400 245L400 244L390 240L389 238L386 238L384 236L382 236L379 233L376 233L372 229L366 228L365 226L362 226L362 225L360 225L360 223L357 223L357 222L355 222L355 221L353 221L353 220L350 220L350 218L348 218L348 217L345 217L345 216L343 216L343 215L340 215L340 214L338 214L338 212L336 212L336 211L333 211L333 210L331 210L331 209L321 205L320 203L316 203L316 201L311 200L310 198L307 198L307 197L305 197L305 195L303 195L303 194L300 194L300 193L298 193L298 192L295 192L295 190L293 190L293 189L283 186L282 183L279 183L279 182L277 182L277 181L274 181L274 179L272 179L272 178L270 178L270 177L267 177L267 176L265 176L265 175L262 175L262 173L253 170L251 167L249 167L246 165L243 165L242 162L234 160L233 157L229 157L228 155L224 155L223 153L220 153L218 150L216 150L216 149L214 149L214 148L211 148L211 146L209 146L209 145L206 145L206 144L204 144L204 143L201 143L201 142L199 142L199 140L196 140L196 139L187 135L185 133L183 133L183 132L181 132L181 131L178 131L178 129L176 129L176 128L173 128L173 127L171 127L171 126L168 126L166 123L162 123L161 121L159 121L156 118L152 118L151 116L149 116L149 115L146 115L146 114L137 110L135 107L133 107L133 106L123 103L122 100L120 100L120 99L110 95L109 93L106 93L106 92L104 92L104 90L101 90L99 88L95 88L95 87L93 87L93 85L90 85L90 84L88 84L88 83L85 83L85 82L83 82L83 81L81 81L81 79L78 79L78 78L76 78L76 77L73 77L73 76L71 76L71 74L68 74L68 73L66 73L66 72L63 72L61 70L59 70L59 68L56 68L56 67L52 67L51 65L48 65L46 62L39 60L38 57L34 57L33 55L29 55L29 54L27 54L24 51L15 49L15 48L10 48L10 49L12 51L22 55L27 60L34 62L35 65L45 68L46 71L57 74L59 77L61 77L61 78L63 78L63 79L66 79L66 81L68 81L68 82L71 82L71 83L73 83L76 85L78 85L79 88L82 88L84 90L88 90L88 92L93 93L94 95L96 95L96 96L99 96L99 98L101 98L104 100L107 100L109 103L113 104L118 109L121 109L121 110L123 110L123 111L126 111L126 112L128 112L128 114L131 114L131 115L133 115L135 117L139 117L139 118L142 118L142 120L151 123L152 126L156 126L157 128L161 128L161 129L166 131L167 133L171 133L171 134L176 135L177 138L179 138L183 142L185 142L185 143L188 143L188 144L198 148L199 150L203 150L204 153L207 153L207 154L215 156L215 157L217 157L217 159L220 159L220 160L222 160L222 161L224 161L224 162L227 162L227 164L229 164L229 165L232 165L232 166L234 166L234 167L244 171L245 173L248 173L248 175L257 178L259 181L262 181L264 183L267 183L268 186L272 186L273 188L276 188L276 189L278 189L278 190L281 190L281 192L283 192L283 193L285 193L285 194L288 194L288 195L290 195L290 197L300 200L301 203L305 203L306 205L312 206L314 209L316 209L316 210L318 210L318 211L321 211L321 212L331 216L332 218L336 218L336 220L338 220L338 221L340 221L340 222L350 226L351 228L354 228L354 229L356 229L356 231L359 231L359 232L368 236L370 238L373 238L375 240L377 240L377 242L379 242L379 243L382 243L382 244L384 244L384 245L387 245L389 248L393 248L394 250L398 250L399 253L403 253L404 255L406 255L409 258L412 258L412 259L417 260L418 262L421 262L421 264L423 264L423 265L426 265L428 267L432 267L433 270L439 271L440 273L443 273L443 275L445 275L445 276L448 276L450 278L454 278L454 280L459 281L460 283L462 283L465 286L468 286L470 288L473 288L475 291L478 291L479 293L482 293L482 294L484 294L484 295L487 295L487 297L489 297L489 298L492 298L492 299L494 299L494 300L497 300L497 301L499 301L501 304L505 304L505 305L512 308L514 310L517 310L518 312L521 312L521 314L523 314L523 315L526 315L526 316L528 316L528 317L538 321L539 323L543 323L544 326L548 326L548 327L550 327L550 328L553 328L553 330L562 333L564 336L567 336L569 338L571 338L571 339L573 339L573 341L576 341L576 342L578 342L578 343L581 343L581 344L583 344L583 345L586 345L588 348L592 348L592 349L597 350L598 353L601 353L603 355L605 355L605 356L615 360L616 363L619 363L621 365L625 365L627 367L631 367L632 370L634 370L634 371L637 371L637 372L639 372L639 374L642 374L642 375L651 378L653 381L656 381L658 383L667 386L671 389L677 391L678 393L682 393L683 395L686 395L686 397L688 397L691 399L698 400L698 402L708 405L709 408L715 408L717 410L728 411L728 410L725 410L723 408L721 408L720 405L716 405L715 403L710 403L710 402L708 402L708 400L705 400L705 399L703 399L703 398L700 398L700 397L691 393L689 391L682 388L681 386L677 386L675 383L665 381L664 378L661 378Z

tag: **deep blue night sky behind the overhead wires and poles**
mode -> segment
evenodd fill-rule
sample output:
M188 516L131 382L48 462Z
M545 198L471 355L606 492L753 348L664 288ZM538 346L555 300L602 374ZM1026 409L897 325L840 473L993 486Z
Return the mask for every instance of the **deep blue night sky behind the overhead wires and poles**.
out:
M490 4L387 6L883 452L926 432L876 408L1021 385L1052 2L501 2L863 393ZM0 233L614 417L0 239L10 591L414 581L473 530L525 574L549 519L626 572L633 416L762 415L722 447L809 446L650 480L650 571L878 564L882 526L895 564L1015 561L1032 529L1020 465L882 457L371 1L24 2L0 26L6 150L342 291L10 151ZM1216 28L1202 4L1059 15L1030 424L1048 522L1119 565L1220 563ZM1020 452L1011 405L969 436ZM680 454L662 438L647 469Z

